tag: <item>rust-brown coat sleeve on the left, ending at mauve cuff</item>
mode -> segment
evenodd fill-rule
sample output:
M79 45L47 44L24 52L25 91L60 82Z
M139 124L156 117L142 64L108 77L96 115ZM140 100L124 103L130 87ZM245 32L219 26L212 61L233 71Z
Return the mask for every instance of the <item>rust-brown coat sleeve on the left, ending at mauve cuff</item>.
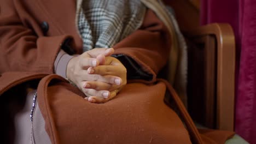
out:
M20 13L27 17L21 20ZM0 0L0 74L5 71L54 73L55 58L67 39L71 37L44 37L28 10L13 1Z

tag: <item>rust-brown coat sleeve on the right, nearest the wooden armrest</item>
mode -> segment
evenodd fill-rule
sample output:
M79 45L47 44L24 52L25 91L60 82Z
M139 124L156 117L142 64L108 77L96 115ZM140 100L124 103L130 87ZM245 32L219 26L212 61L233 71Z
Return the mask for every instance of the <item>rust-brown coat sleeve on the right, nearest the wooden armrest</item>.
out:
M139 69L152 75L149 81L155 81L167 62L171 49L170 37L164 23L152 10L147 10L141 28L115 45L115 54L132 58Z

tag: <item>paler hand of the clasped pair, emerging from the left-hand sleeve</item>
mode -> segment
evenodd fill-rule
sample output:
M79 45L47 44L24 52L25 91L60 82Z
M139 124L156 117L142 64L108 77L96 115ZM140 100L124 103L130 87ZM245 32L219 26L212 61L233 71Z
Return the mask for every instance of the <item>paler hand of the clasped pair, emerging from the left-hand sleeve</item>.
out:
M97 65L104 65L106 59L112 55L114 49L95 48L84 52L82 55L73 57L67 65L66 75L87 97L98 96L109 98L110 92L107 91L112 85L120 85L116 83L121 81L118 76L112 75L91 75L88 74L89 67L96 67ZM98 85L96 91L88 91L86 88L86 81L100 81L102 85ZM92 101L93 102L93 101Z

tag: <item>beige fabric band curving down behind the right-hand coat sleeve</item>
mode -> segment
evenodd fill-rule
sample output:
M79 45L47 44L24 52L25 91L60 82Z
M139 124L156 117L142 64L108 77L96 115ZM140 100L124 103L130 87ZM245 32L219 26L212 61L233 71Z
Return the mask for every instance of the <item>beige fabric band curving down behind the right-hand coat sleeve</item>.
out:
M159 19L165 23L170 35L172 35L170 40L172 41L172 47L167 63L167 80L173 85L183 104L187 107L187 45L181 31L179 31L178 22L161 1L141 0L141 2L158 15Z

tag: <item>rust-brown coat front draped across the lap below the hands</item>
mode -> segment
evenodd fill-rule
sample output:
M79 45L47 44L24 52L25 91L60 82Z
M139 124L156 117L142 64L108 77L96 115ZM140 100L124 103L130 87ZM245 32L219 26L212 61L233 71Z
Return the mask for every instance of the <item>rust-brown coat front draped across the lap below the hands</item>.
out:
M161 82L129 83L113 100L92 104L60 84L47 90L51 110L42 103L39 107L46 130L57 131L53 135L61 143L71 137L75 143L190 143L183 123L164 103L165 89Z

